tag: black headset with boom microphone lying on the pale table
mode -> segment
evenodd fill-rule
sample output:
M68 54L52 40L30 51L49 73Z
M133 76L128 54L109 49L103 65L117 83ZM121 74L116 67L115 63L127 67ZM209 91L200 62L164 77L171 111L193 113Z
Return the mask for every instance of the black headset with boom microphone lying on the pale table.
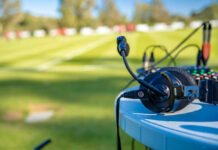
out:
M199 86L185 70L163 67L148 74L144 79L139 79L126 60L129 44L124 36L117 38L117 51L129 73L140 84L139 89L124 92L122 97L140 99L146 108L156 113L180 110L198 98Z

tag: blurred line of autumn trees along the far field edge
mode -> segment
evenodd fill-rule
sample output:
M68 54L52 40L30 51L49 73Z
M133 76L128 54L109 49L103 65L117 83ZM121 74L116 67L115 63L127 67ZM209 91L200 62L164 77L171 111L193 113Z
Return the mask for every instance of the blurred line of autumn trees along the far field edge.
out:
M93 10L98 16L93 17ZM151 4L135 2L134 15L131 20L121 14L114 0L103 0L100 8L95 0L60 0L60 18L37 17L21 11L20 0L0 0L0 33L10 30L49 30L59 27L74 27L80 29L85 26L97 27L106 25L112 27L118 24L152 25L157 22L167 24L173 21L189 23L192 20L218 19L218 3L212 3L200 12L193 12L191 16L171 15L161 0L153 0Z

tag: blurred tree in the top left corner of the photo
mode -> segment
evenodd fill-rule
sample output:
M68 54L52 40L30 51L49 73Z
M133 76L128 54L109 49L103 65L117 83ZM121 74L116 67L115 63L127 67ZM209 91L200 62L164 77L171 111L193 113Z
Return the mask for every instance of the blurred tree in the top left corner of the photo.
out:
M3 31L13 30L22 18L20 0L0 0L0 18Z

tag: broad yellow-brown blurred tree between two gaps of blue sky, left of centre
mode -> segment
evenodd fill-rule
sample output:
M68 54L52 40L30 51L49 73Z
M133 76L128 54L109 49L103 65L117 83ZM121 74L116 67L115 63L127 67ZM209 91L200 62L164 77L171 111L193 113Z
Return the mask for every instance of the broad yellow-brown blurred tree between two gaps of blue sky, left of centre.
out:
M78 29L88 26L92 20L91 12L94 5L95 0L61 0L62 18L60 25Z

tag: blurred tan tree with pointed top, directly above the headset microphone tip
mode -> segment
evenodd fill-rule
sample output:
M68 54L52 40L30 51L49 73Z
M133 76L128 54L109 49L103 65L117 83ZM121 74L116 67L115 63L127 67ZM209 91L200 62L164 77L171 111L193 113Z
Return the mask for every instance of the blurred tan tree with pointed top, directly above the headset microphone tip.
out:
M104 4L99 11L101 24L112 27L118 24L125 24L126 17L121 15L113 0L104 0Z

